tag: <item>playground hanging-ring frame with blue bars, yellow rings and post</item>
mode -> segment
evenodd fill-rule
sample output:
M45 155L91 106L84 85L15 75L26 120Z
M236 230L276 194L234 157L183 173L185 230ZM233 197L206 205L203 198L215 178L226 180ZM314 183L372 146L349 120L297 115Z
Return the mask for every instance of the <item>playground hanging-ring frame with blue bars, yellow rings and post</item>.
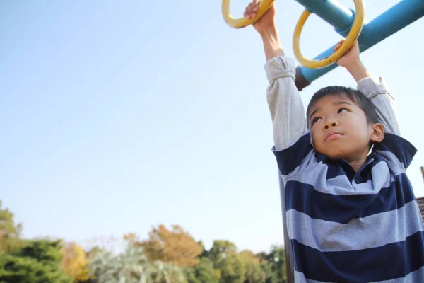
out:
M343 7L336 0L295 0L302 6L305 11L300 16L298 24L293 35L293 52L296 59L303 66L296 68L295 83L299 90L309 86L312 81L331 71L337 64L334 64L344 52L349 50L355 40L358 40L360 52L364 52L368 48L376 45L390 35L398 32L407 25L424 16L424 0L403 0L398 4L389 8L387 11L379 15L369 23L365 23L365 9L363 8L363 0L353 0L355 2L356 11ZM230 15L230 0L222 2L223 18L232 28L243 28L257 21L272 6L273 0L262 0L259 4L257 16L252 19L235 19ZM334 46L329 47L314 60L303 58L300 47L300 32L310 13L315 13L319 18L334 27L336 33L346 37L343 46L334 52ZM365 23L365 24L364 24ZM424 171L423 171L424 172ZM423 173L424 174L424 173ZM278 174L279 175L279 174ZM281 207L283 212L283 226L285 224L285 207L284 207L284 185L281 176L279 176ZM286 264L288 270L288 282L294 282L293 276L293 259L291 257L290 240L288 239L287 229L284 229L284 246Z

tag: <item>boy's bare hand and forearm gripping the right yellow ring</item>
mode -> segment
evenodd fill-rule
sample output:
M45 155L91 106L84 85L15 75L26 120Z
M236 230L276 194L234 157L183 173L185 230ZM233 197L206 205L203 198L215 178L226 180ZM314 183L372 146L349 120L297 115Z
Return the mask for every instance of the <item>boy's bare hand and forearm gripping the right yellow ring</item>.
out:
M338 50L343 42L344 40L338 42L338 44L334 47L334 51ZM351 47L351 49L337 61L339 66L346 68L346 70L351 73L356 82L372 76L370 71L368 71L364 64L360 61L359 53L358 41L355 41L355 44Z

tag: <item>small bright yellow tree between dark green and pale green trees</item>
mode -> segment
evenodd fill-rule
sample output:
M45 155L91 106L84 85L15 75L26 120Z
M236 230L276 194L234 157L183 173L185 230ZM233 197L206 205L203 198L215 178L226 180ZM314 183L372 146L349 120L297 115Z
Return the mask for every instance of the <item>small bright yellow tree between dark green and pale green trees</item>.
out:
M76 243L64 243L62 247L64 257L61 260L61 267L66 274L75 278L76 282L84 282L90 279L90 270L88 270L88 258L86 251Z

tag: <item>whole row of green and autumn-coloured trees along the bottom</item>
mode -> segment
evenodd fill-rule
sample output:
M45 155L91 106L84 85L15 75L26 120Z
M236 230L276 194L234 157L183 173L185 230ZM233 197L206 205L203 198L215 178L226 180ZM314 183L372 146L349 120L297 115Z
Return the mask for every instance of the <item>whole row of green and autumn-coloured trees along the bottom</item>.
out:
M22 226L0 202L0 283L287 282L282 246L255 255L250 250L238 253L234 243L216 240L206 250L180 226L172 227L158 226L148 241L125 235L121 253L98 246L86 253L76 243L21 239Z

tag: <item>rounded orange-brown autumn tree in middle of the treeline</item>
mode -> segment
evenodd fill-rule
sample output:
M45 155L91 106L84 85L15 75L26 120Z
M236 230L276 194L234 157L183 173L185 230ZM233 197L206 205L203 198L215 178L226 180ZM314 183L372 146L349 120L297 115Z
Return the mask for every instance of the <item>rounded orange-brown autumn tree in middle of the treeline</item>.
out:
M199 263L198 256L203 250L181 226L173 225L170 231L159 225L153 227L148 236L148 240L139 242L139 246L144 248L152 262L160 260L178 267L194 267Z

